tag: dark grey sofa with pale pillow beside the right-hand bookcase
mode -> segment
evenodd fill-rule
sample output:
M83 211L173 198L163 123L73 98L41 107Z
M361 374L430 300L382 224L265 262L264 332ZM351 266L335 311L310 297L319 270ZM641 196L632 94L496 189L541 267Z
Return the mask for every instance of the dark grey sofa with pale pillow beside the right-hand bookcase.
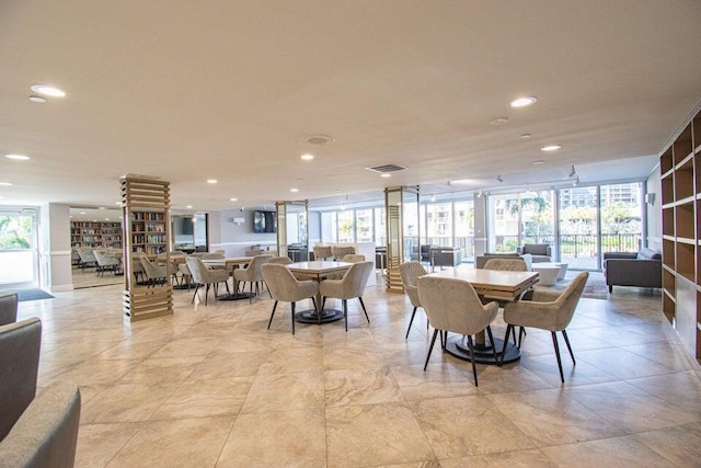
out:
M662 287L662 253L652 249L606 252L604 276L609 293L613 286Z

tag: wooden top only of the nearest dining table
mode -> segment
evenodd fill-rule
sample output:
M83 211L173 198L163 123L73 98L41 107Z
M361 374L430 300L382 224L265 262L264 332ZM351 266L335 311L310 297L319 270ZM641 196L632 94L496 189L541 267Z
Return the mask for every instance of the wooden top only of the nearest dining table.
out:
M482 269L447 269L429 276L462 279L482 296L514 300L538 283L538 272L505 272Z

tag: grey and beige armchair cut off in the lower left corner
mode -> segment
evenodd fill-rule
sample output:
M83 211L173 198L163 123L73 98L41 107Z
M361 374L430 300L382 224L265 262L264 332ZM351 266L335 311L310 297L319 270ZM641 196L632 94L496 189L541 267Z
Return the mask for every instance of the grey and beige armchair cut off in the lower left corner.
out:
M80 423L76 384L54 381L36 396L42 322L0 327L0 468L72 467Z

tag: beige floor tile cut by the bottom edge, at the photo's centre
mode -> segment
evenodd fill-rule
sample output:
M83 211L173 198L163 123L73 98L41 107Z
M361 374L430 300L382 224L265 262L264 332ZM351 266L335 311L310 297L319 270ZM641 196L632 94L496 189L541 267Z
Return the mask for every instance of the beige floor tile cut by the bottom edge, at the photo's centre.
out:
M402 403L326 409L330 467L424 461L435 455L411 409Z

